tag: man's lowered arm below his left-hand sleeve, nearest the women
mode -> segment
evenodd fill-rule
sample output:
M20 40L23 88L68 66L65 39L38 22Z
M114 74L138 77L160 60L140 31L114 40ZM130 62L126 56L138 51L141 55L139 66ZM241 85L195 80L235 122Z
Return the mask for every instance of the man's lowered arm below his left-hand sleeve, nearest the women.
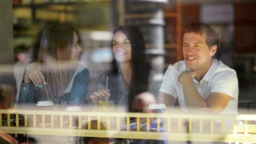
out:
M176 98L167 93L159 92L157 96L157 103L165 104L168 107L173 107L175 104Z

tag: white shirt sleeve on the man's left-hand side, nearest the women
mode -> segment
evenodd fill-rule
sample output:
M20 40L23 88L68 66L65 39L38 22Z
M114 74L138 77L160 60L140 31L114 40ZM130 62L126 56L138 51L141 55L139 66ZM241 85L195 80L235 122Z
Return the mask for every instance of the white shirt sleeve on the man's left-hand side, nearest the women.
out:
M175 86L175 79L173 75L175 74L173 66L170 64L168 69L163 76L163 83L159 91L167 93L177 99L177 92Z

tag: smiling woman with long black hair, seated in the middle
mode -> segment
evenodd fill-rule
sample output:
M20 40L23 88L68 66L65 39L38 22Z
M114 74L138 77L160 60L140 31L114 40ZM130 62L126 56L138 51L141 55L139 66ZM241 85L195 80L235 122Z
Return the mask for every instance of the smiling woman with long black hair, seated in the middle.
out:
M122 26L114 31L112 51L115 59L112 68L100 76L97 91L91 95L94 104L106 99L114 100L115 106L133 111L135 96L149 92L154 96L160 88L155 72L146 61L145 42L140 30L136 27ZM109 89L106 90L106 80Z

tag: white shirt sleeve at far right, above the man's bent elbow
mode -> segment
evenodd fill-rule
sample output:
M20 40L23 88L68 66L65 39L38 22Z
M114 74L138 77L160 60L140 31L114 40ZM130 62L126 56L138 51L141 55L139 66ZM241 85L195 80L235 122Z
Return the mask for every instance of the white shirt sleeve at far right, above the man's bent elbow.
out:
M217 73L212 77L210 85L210 93L225 93L233 98L231 100L238 99L238 80L235 72Z

